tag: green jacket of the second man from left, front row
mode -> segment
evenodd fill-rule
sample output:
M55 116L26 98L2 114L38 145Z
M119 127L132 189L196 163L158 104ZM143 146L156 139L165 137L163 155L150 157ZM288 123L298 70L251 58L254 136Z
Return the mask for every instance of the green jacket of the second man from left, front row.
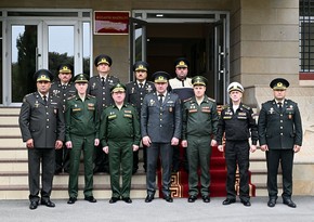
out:
M79 95L74 95L66 101L65 108L66 141L71 141L71 134L92 135L99 139L100 117L97 114L96 99L87 95L82 101Z

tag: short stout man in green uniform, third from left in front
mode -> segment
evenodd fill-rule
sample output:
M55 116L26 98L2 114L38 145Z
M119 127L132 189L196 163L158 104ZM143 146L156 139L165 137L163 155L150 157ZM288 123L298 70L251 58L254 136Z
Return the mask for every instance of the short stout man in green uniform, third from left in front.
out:
M114 204L121 198L131 204L132 153L139 149L141 141L140 120L136 108L123 102L126 99L123 84L115 84L112 94L115 104L106 107L101 118L101 143L103 151L109 156L113 191L109 203ZM122 186L120 186L120 174L122 174Z

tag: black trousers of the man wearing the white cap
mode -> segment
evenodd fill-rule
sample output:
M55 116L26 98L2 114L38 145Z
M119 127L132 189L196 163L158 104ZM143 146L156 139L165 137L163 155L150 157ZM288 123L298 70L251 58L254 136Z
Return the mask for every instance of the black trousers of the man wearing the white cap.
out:
M226 197L236 198L235 182L236 170L239 168L240 183L239 197L241 200L249 200L249 152L250 145L246 141L225 142L225 162L226 162Z

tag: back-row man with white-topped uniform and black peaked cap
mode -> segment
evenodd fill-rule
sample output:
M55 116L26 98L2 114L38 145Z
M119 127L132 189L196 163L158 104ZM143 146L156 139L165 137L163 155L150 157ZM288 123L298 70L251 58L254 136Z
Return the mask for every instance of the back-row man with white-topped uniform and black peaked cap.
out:
M189 62L185 57L178 57L174 62L175 78L169 80L172 92L176 93L183 102L194 95L192 78L187 77ZM183 153L183 159L180 158L180 146L172 146L172 172L180 170L181 162L186 171L188 171L186 151Z

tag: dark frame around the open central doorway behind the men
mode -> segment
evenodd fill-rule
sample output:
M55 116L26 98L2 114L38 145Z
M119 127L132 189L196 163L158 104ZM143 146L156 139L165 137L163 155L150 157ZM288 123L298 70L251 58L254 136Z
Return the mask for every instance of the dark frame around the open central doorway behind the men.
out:
M226 103L228 101L227 93L225 92L225 89L227 88L227 84L230 83L230 12L227 11L188 11L188 10L134 10L132 11L132 18L136 21L142 21L147 24L149 23L210 23L214 24L221 19L224 19L224 36L223 36L223 50L224 55L221 56L221 52L219 53L214 49L214 60L213 61L207 61L207 64L214 63L217 64L217 61L219 61L220 57L220 64L224 64L223 71L224 71L224 82L220 82L220 75L221 75L221 67L218 65L214 65L214 79L215 84L221 83L219 88L223 88L223 95L219 95L218 93L218 87L215 86L214 89L214 99L222 97L221 102ZM134 23L131 23L130 27L130 61L135 61L135 32L134 32ZM215 31L217 34L217 31ZM146 38L146 29L143 28L142 37ZM214 38L218 38L217 36ZM142 41L147 41L147 39L142 39ZM217 43L217 41L214 41ZM145 43L142 44L143 47L146 45ZM217 45L214 45L217 48ZM143 51L146 52L146 49L143 49ZM143 61L146 61L146 53L143 53L145 56L142 57ZM209 58L208 58L209 60ZM222 61L223 60L223 61ZM208 65L207 65L208 67ZM131 73L132 74L132 73ZM130 79L132 79L132 75L130 75Z

